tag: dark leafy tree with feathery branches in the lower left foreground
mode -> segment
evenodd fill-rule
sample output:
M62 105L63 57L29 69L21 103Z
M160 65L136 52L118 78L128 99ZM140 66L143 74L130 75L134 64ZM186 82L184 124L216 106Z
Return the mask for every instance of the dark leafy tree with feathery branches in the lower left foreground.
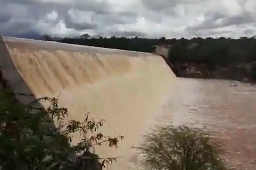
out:
M59 107L57 98L43 97L23 105L15 95L28 94L14 94L10 88L0 89L1 170L99 170L106 163L116 160L101 159L90 152L93 146L103 143L117 147L123 138L97 133L104 120L94 121L86 113L83 121L64 122L68 110ZM34 103L38 101L48 102L49 107L35 107ZM72 143L75 133L82 136L77 144Z

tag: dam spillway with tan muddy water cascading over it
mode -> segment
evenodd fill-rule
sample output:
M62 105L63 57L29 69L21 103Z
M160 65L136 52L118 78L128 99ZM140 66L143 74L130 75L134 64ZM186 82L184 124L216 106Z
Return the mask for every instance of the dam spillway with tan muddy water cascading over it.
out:
M133 146L161 112L175 84L162 57L142 52L0 37L0 66L18 93L59 96L67 120L90 112L105 119L105 135L123 135L118 148L100 146L101 157L123 156L109 169L136 169ZM17 96L27 103L32 99ZM76 138L73 142L79 141Z

